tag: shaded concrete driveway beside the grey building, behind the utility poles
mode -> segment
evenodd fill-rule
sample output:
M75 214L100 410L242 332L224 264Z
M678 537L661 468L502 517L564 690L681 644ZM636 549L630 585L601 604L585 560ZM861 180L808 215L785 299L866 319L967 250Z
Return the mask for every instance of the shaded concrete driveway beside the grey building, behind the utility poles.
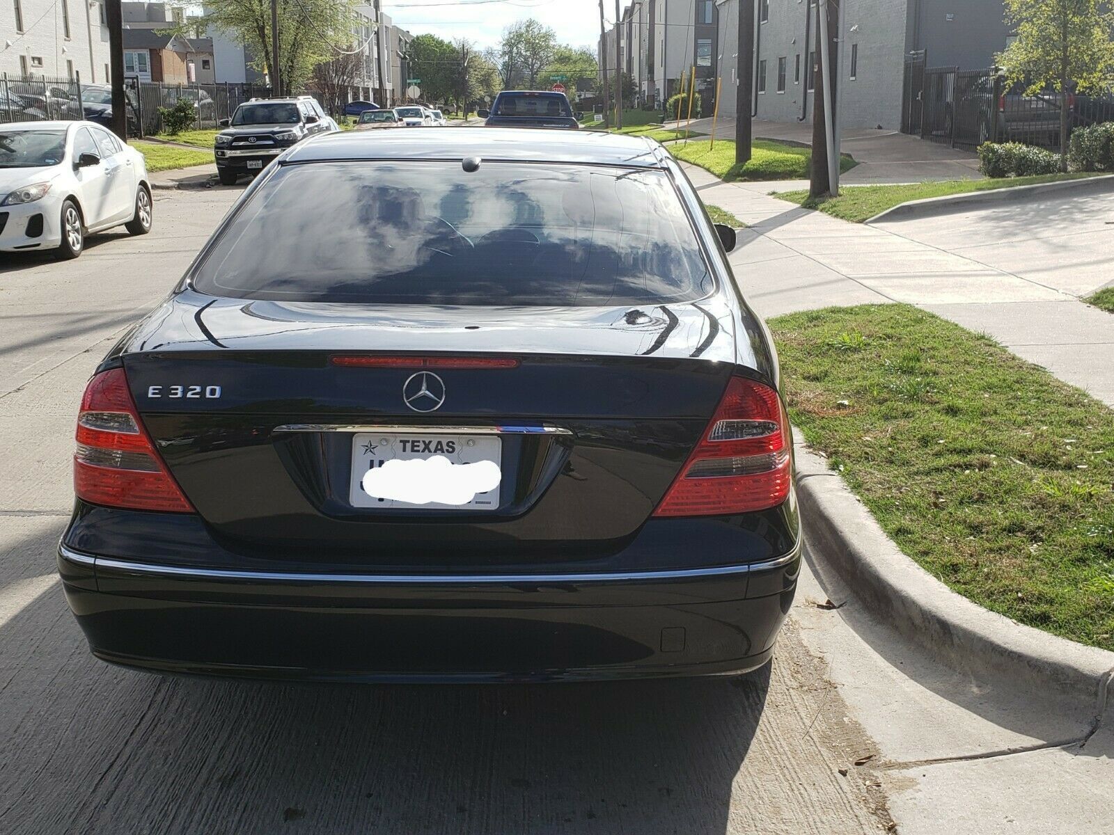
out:
M665 127L682 130L685 122L667 121ZM700 134L712 132L711 119L694 119L691 129ZM756 139L812 144L812 122L784 122L754 120ZM702 139L704 137L697 137ZM735 138L735 120L719 119L716 139ZM978 157L946 145L925 141L896 130L850 128L842 131L841 151L850 154L859 164L840 180L848 185L871 183L924 183L944 179L983 179L978 171Z

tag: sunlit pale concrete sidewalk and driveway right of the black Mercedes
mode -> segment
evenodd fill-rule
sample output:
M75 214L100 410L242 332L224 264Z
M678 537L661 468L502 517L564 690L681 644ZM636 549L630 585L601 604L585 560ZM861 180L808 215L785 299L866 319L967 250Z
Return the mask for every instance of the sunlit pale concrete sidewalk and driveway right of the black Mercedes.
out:
M730 257L743 293L762 316L833 305L915 304L993 336L1114 406L1114 315L1078 299L1114 277L1107 248L1114 227L1103 219L1114 220L1114 194L1088 195L1082 204L1076 198L1081 205L1075 206L1069 195L1061 195L1055 210L1046 200L1010 204L1005 210L1013 225L1001 222L995 206L965 213L950 227L920 220L864 226L770 197L764 194L769 183L723 183L703 168L686 165L685 170L705 203L750 227L739 232ZM1058 236L1042 236L1052 217L1072 225L1087 218L1086 228L1069 238L1075 268L1052 269L1067 246ZM996 243L996 235L1005 236L1003 228L1010 235Z

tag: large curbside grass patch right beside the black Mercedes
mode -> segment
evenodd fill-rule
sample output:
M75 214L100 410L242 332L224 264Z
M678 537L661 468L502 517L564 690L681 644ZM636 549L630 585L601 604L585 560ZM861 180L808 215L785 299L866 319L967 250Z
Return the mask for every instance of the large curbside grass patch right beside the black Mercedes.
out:
M770 321L794 424L909 557L1114 649L1114 411L907 305Z

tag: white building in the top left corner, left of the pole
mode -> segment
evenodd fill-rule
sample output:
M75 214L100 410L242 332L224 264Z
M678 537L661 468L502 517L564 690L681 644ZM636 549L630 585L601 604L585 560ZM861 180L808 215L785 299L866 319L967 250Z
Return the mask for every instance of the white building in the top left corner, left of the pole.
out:
M108 28L99 0L0 2L0 72L108 80Z

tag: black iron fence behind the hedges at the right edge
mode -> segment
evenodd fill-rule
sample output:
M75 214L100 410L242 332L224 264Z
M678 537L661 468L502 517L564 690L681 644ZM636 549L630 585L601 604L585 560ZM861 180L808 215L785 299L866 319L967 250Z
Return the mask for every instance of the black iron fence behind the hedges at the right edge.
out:
M975 150L986 141L1024 143L1059 150L1061 116L1068 134L1114 121L1114 96L1026 92L1007 85L997 68L928 69L922 55L906 60L901 130L952 148Z

